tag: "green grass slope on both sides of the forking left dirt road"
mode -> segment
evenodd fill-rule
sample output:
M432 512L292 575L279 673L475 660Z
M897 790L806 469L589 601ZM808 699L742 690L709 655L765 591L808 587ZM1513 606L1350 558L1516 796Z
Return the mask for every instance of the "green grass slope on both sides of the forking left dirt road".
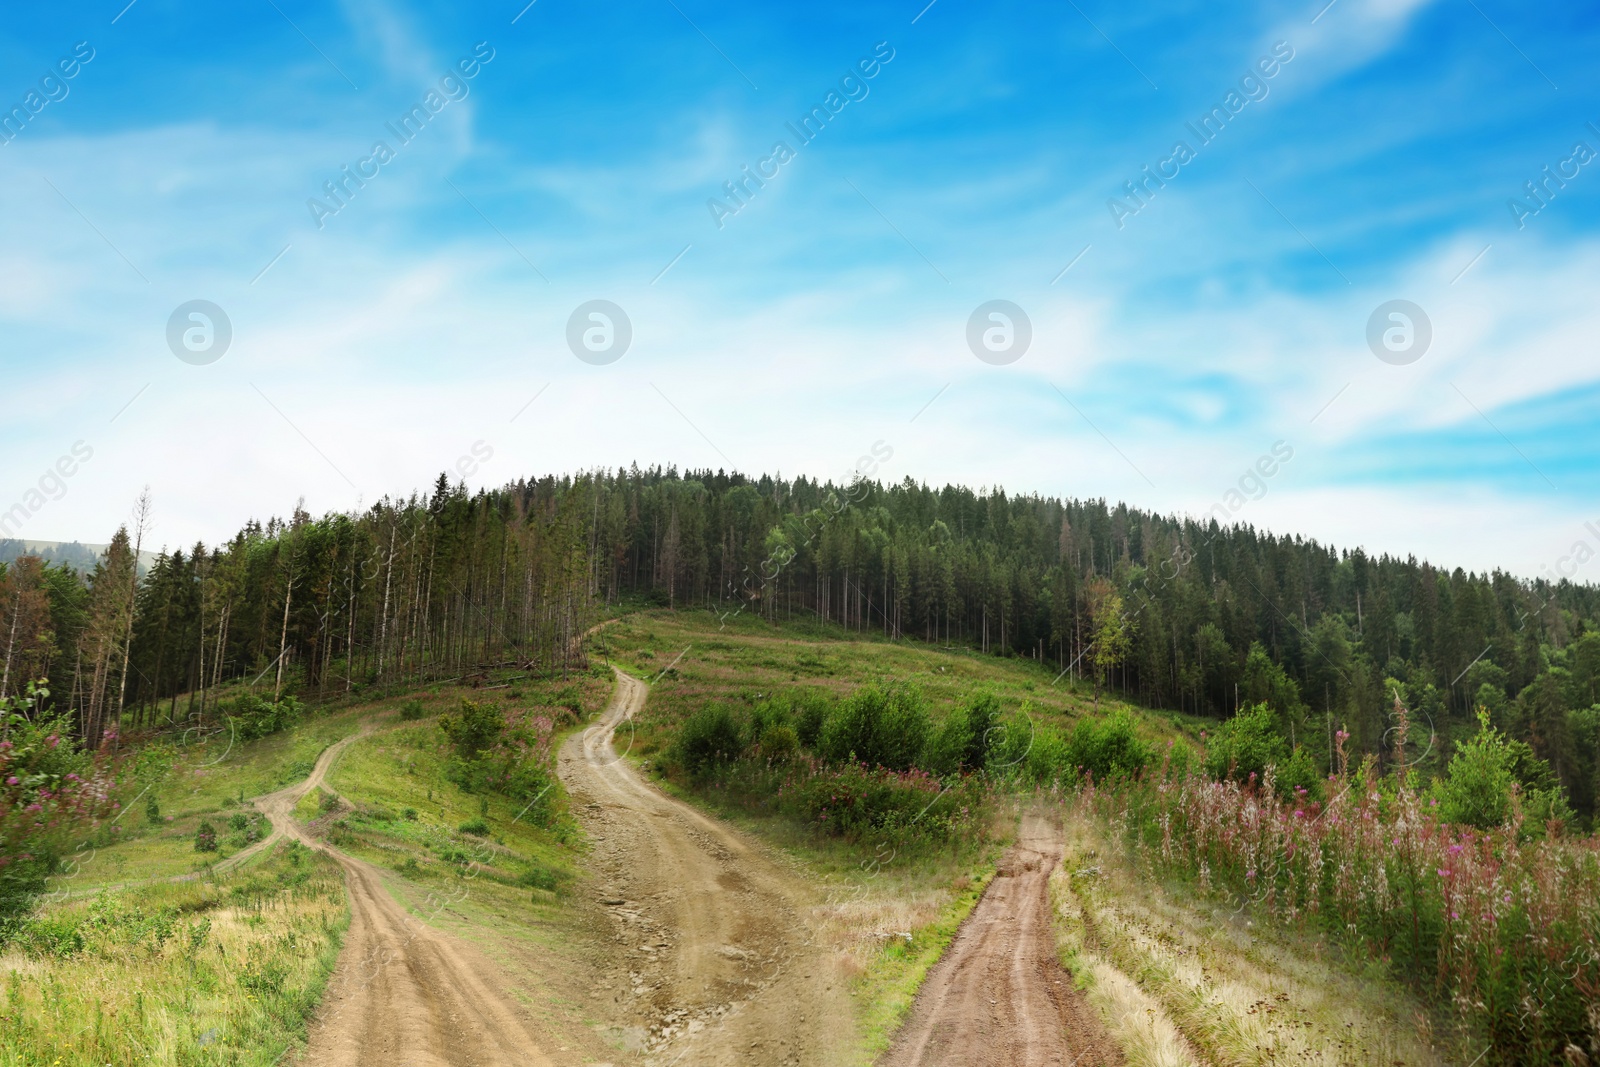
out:
M293 729L245 744L226 731L147 741L130 765L126 811L67 857L0 953L0 1067L266 1065L301 1041L347 923L338 865L280 843L240 870L211 867L266 829L242 800L304 779L363 720L378 731L341 755L328 790L307 793L296 814L389 867L390 888L414 912L507 963L538 1013L576 1013L574 990L544 984L541 968L584 941L562 896L581 869L582 837L570 821L533 827L504 798L490 798L485 814L482 797L443 776L437 717L467 696L539 709L571 729L605 704L611 685L605 670L482 689L446 685L341 697L323 713L309 709ZM422 717L402 721L410 701ZM325 809L334 795L344 803ZM232 825L235 816L246 830ZM454 829L472 819L490 833ZM202 821L216 829L214 853L195 851Z

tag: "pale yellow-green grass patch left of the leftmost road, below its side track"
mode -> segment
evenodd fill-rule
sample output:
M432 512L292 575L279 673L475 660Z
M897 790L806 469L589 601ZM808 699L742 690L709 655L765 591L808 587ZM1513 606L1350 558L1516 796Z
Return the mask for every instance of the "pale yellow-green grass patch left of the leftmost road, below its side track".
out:
M0 955L0 1067L274 1064L304 1040L347 918L338 865L290 845L58 902Z

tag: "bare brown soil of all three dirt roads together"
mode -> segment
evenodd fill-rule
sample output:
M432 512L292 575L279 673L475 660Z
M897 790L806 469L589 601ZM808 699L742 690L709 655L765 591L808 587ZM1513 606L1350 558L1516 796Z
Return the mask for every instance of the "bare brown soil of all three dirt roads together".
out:
M613 1059L654 1067L835 1067L854 1059L848 979L816 941L813 883L739 830L646 784L627 763L630 718L648 686L618 672L600 720L560 750L560 776L594 845L578 905L595 917L597 947L568 974L586 1001L587 1051L544 1033L501 966L414 918L379 870L312 840L296 803L339 753L256 806L272 835L333 856L350 894L350 929L307 1064L330 1067L550 1067ZM618 752L622 747L622 753ZM1056 957L1048 880L1061 832L1038 816L930 971L883 1067L1096 1067L1122 1064ZM568 1035L570 1038L571 1035ZM557 1056L541 1049L555 1048ZM597 1067L611 1067L597 1064Z

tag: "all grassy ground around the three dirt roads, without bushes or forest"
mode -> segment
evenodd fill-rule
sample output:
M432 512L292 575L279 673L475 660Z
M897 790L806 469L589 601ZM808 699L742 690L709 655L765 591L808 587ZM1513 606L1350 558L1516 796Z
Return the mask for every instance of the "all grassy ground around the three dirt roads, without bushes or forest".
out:
M1024 805L1045 806L1069 829L1056 889L1062 958L1130 1062L1360 1064L1379 1051L1382 1062L1445 1062L1432 1048L1445 1038L1432 1033L1430 1013L1381 966L1312 929L1270 931L1250 909L1152 880L1059 789L971 793L979 809L963 824L970 832L890 848L883 837L824 833L731 790L662 777L675 737L702 709L755 709L797 689L842 701L864 686L912 683L936 725L987 691L1000 709L997 741L1024 758L1040 737L1117 713L1154 752L1198 750L1206 720L1104 693L1096 709L1088 683L1032 659L814 622L723 624L704 611L645 609L587 645L592 669L565 680L499 672L475 688L344 697L250 742L216 725L146 741L128 765L133 789L117 824L70 857L0 955L0 1067L210 1056L269 1064L298 1045L339 947L338 872L288 845L235 870L219 864L259 837L253 797L302 779L330 744L363 728L325 787L301 801L304 824L386 870L389 889L424 921L483 949L526 990L542 1025L570 1035L570 1048L616 1056L626 1035L590 1000L605 953L582 891L587 846L560 787L531 819L520 800L464 781L440 729L440 717L469 699L533 723L544 760L563 731L605 705L606 664L653 681L638 723L618 736L626 758L760 835L813 880L816 936L853 990L861 1062L888 1043ZM203 822L216 830L216 851L195 851Z

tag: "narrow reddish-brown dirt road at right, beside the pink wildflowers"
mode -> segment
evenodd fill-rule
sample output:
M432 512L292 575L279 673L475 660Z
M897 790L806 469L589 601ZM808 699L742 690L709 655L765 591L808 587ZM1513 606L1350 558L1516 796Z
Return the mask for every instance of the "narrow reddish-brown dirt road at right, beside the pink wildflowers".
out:
M1120 1064L1056 958L1050 872L1061 832L1022 819L1018 843L928 973L882 1067L1099 1067Z

